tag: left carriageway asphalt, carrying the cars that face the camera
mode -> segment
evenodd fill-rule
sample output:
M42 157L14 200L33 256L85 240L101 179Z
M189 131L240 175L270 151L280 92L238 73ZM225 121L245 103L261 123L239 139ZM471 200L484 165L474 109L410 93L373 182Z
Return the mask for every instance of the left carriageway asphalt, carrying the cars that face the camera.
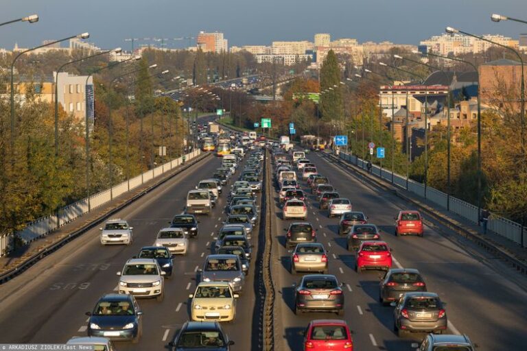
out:
M99 230L95 228L1 285L0 343L65 343L73 336L85 336L88 317L84 313L93 310L101 295L116 290L116 272L142 246L152 245L158 230L182 212L187 191L194 189L199 180L210 178L218 167L220 160L209 157L115 215L134 227L132 245L101 247ZM190 239L186 256L174 259L174 273L165 280L163 302L138 300L144 312L139 344L120 342L117 350L163 350L176 330L189 320L188 295L194 293L196 271L202 267L204 256L211 253L212 238L224 221L225 199L226 192L211 217L198 217L198 238ZM252 241L257 245L256 235ZM256 252L257 246L253 250ZM236 321L223 324L236 343L232 350L251 350L251 343L256 342L250 332L255 308L253 276L254 264L237 302Z

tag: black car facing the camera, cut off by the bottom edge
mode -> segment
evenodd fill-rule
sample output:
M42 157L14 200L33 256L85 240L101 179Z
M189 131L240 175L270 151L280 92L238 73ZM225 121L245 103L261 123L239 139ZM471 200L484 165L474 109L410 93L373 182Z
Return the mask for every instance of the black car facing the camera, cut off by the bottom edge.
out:
M229 351L231 345L234 341L229 340L218 322L185 322L167 347L172 351Z

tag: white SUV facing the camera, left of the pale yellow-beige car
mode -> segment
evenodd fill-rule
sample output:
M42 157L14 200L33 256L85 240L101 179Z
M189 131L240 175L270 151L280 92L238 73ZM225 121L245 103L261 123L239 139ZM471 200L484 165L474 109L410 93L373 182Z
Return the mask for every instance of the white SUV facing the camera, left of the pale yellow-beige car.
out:
M165 272L154 258L131 258L122 271L117 272L119 293L128 293L140 298L163 301L165 297Z

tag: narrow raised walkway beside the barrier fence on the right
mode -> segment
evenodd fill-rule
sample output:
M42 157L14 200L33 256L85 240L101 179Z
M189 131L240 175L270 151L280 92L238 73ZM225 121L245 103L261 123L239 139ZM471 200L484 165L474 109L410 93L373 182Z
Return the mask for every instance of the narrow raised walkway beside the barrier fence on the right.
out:
M406 191L406 189L392 184L391 182L388 182L384 179L381 180L377 175L368 173L366 170L355 166L353 163L349 163L340 158L337 158L332 154L329 154L329 152L324 152L322 155L329 158L332 162L340 163L341 165L345 165L345 167L353 169L355 173L360 174L360 176L362 176L363 178L366 178L371 182L375 182L375 184L379 184L380 186L383 186L389 191L393 191L399 197L407 199L408 201L416 204L417 206L425 208L429 212L434 213L436 216L441 217L445 221L452 223L454 227L459 227L463 230L467 230L468 232L470 232L470 234L474 235L475 237L479 237L481 239L484 239L485 241L488 241L489 243L492 243L495 247L513 256L517 260L527 264L527 250L518 245L517 243L505 237L502 237L501 235L496 234L491 230L487 230L487 234L483 234L482 226L477 226L475 223L472 223L468 219L465 219L464 217L456 213L450 212L445 208L437 206L437 204L430 201L429 199L425 199L424 197L420 197L419 195L416 195L410 191Z

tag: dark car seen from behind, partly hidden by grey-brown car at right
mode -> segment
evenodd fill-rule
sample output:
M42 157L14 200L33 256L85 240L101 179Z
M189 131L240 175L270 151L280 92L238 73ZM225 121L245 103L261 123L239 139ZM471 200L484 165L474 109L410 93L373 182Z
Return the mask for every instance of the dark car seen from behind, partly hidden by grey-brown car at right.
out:
M379 283L379 302L399 300L404 293L426 291L425 280L417 269L393 268Z

